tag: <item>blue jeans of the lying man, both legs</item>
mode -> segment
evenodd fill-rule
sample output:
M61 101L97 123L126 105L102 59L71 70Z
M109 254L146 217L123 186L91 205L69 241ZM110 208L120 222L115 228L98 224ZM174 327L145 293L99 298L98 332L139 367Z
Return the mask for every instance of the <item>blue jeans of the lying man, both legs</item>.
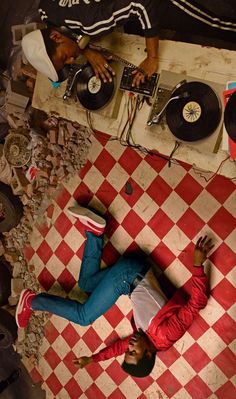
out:
M148 267L144 262L131 257L121 257L112 267L100 269L103 236L90 232L86 235L78 284L82 290L91 293L89 298L81 304L55 295L39 294L32 301L33 310L54 313L87 326L110 309L120 295L128 295L137 276L146 274Z

